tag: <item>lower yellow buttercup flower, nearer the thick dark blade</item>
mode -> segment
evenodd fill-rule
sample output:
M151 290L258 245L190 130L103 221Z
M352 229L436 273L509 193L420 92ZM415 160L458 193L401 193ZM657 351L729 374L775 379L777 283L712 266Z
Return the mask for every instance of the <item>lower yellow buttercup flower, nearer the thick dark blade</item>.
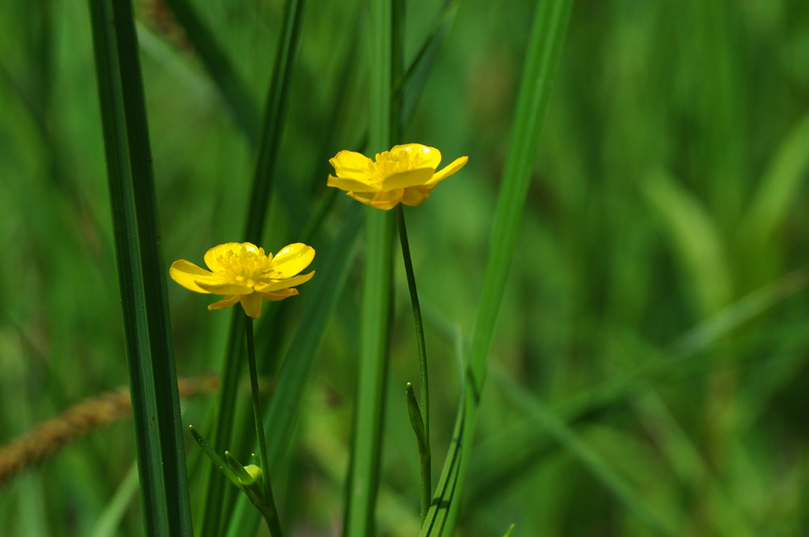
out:
M264 248L252 243L227 243L205 253L205 268L184 259L172 263L172 280L197 293L222 294L225 299L211 304L209 310L221 310L241 302L244 313L253 319L261 315L264 300L294 297L295 285L309 281L315 272L301 274L315 249L303 243L286 246L275 257L265 255Z

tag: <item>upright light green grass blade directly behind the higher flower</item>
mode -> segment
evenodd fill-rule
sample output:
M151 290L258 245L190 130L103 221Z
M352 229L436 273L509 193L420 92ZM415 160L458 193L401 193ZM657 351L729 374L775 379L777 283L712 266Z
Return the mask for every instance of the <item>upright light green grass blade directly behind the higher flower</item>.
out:
M371 0L366 45L371 70L368 129L371 154L388 150L392 144L393 54L399 50L394 43L393 8L392 0ZM346 537L368 537L374 531L392 294L393 215L371 207L363 210L366 213L365 273L353 449L343 518Z

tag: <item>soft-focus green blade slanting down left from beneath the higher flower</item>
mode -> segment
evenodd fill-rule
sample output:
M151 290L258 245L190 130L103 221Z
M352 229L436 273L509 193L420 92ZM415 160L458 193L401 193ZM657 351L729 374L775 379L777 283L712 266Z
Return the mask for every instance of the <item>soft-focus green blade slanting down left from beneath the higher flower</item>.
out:
M307 305L278 374L277 388L265 416L270 476L277 475L282 457L289 446L311 365L356 255L362 216L362 207L352 204L323 264L318 265L317 274L311 281L314 284L311 294L309 291L306 293ZM318 256L321 255L319 252ZM257 511L247 501L239 498L227 535L255 535L259 522Z

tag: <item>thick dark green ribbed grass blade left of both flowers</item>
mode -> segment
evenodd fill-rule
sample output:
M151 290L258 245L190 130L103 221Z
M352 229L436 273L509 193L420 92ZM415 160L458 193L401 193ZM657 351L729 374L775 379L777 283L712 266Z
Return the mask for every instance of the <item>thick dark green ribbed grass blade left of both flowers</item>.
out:
M150 535L190 536L166 268L132 4L91 0L90 8L146 528Z

